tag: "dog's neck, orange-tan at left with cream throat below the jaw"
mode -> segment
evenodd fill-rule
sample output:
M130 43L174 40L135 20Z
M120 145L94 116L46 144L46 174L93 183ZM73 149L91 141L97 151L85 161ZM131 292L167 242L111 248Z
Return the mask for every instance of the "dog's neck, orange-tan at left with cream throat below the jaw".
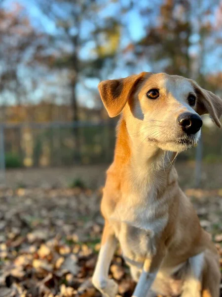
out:
M169 183L170 172L175 172L174 156L175 153L148 143L136 144L127 131L124 118L120 119L113 165L119 178L131 183L130 187L163 191Z

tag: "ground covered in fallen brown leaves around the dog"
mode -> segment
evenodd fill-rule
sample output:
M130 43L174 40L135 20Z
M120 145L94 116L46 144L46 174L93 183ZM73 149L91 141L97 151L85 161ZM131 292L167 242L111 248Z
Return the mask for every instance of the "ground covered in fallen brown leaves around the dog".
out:
M222 190L186 190L221 253ZM103 219L101 191L0 189L0 297L100 297L91 285ZM119 296L135 284L120 248L110 275Z

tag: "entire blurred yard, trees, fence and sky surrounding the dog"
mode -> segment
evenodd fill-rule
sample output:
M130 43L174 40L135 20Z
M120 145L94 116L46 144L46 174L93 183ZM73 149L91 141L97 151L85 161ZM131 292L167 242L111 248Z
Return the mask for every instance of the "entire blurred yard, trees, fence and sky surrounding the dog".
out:
M222 0L0 0L0 297L101 297L90 280L118 119L97 85L142 71L222 98ZM176 167L222 267L222 129L203 121ZM132 296L119 248L110 277Z

